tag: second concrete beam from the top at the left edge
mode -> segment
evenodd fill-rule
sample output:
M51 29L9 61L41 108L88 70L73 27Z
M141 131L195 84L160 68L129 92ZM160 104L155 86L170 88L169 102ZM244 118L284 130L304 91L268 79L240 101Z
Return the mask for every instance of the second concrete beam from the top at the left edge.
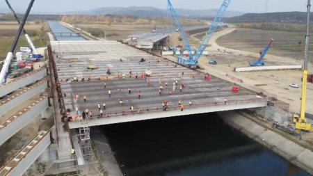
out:
M22 102L24 102L26 99L29 99L34 95L45 91L46 88L48 88L47 81L42 80L29 88L25 88L12 97L4 99L2 102L0 102L0 116L5 114L7 111L10 111L10 109L16 108L16 106L22 104Z

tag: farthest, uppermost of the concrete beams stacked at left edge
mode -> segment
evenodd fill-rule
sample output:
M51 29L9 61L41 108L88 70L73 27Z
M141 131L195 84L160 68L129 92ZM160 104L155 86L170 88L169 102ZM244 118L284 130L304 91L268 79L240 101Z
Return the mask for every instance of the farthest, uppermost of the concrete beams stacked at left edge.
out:
M22 88L30 83L38 81L47 76L47 69L42 67L40 70L35 70L28 74L24 74L22 77L13 79L8 83L4 83L0 86L0 97L12 93L14 90Z

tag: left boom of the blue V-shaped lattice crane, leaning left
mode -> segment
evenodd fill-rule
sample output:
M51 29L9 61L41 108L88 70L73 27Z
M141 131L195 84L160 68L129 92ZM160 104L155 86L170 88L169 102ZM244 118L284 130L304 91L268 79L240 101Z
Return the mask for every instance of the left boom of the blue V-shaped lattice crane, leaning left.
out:
M175 25L182 37L182 40L184 42L184 47L186 48L186 50L188 51L188 54L189 54L189 60L192 60L193 59L193 54L192 54L192 51L191 51L191 47L189 45L189 41L188 41L188 38L186 36L186 33L183 29L183 26L182 24L180 24L179 22L179 17L174 9L174 7L172 6L172 3L170 3L170 0L168 0L168 10L170 11L170 15L172 15L172 19L174 19L174 22L175 22Z

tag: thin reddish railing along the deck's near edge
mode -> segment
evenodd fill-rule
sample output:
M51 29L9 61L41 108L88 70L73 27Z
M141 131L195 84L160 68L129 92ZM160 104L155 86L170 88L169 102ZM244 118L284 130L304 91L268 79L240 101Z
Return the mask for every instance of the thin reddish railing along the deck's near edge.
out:
M136 114L142 114L142 113L152 113L157 111L173 111L173 110L179 110L181 106L184 106L184 109L189 108L199 108L199 107L206 107L206 106L229 106L229 105L236 105L236 104L249 104L249 103L255 103L255 102L264 102L264 106L266 106L266 99L264 98L251 98L251 99L234 99L234 100L228 100L225 102L211 102L211 103L198 103L198 104L181 104L181 105L170 105L170 106L158 106L153 108L147 108L147 109L134 109L134 110L128 110L128 111L115 111L115 112L106 112L102 115L97 113L93 115L92 117L89 117L88 120L93 120L93 118L113 118L118 116L125 116L125 115L136 115ZM81 115L74 115L72 116L72 119L68 120L69 122L81 122L83 121Z

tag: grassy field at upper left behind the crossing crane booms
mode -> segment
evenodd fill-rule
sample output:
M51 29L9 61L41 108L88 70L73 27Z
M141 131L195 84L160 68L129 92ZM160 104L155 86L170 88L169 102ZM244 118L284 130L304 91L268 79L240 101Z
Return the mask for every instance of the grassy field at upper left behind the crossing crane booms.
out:
M17 22L0 22L0 61L3 61L8 51L10 51L18 27ZM48 30L48 27L46 23L35 24L35 22L29 22L24 29L29 33L35 47L45 47L47 45L48 38L45 31ZM19 47L29 47L24 34L19 37L15 51L19 51Z

